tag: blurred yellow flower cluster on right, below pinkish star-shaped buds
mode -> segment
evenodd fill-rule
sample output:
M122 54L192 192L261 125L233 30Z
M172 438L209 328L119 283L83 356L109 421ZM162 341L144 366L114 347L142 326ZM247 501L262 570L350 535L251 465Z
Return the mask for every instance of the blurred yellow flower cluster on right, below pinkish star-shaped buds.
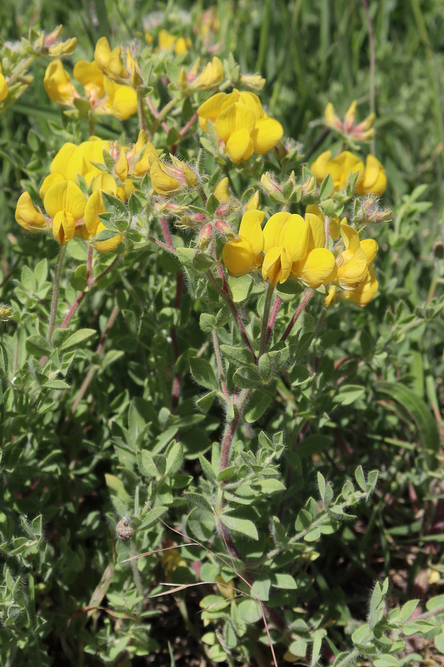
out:
M343 189L347 185L349 175L356 171L358 176L355 193L359 195L368 193L382 195L387 186L384 168L374 155L367 155L364 167L363 161L349 151L343 151L333 158L332 151L324 151L314 161L311 169L318 182L323 181L330 173L335 190Z

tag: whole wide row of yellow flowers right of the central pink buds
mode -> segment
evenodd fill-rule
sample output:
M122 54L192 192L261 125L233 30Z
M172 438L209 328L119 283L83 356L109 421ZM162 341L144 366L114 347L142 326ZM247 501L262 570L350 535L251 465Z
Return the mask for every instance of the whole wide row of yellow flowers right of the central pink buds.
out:
M340 224L344 249L335 256L326 248L324 222L315 213L306 213L305 218L296 213L275 213L262 230L264 217L263 211L246 211L238 235L225 243L222 257L230 275L261 271L270 285L296 279L312 289L333 282L350 301L359 305L371 301L377 291L373 269L376 241L360 241L344 218Z

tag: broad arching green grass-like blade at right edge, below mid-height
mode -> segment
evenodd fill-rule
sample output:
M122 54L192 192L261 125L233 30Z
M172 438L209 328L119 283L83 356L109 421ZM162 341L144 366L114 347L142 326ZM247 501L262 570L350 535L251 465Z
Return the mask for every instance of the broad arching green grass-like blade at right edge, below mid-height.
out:
M401 382L376 382L375 390L388 394L391 400L397 401L411 416L417 426L423 444L429 450L439 450L439 433L436 422L425 402Z

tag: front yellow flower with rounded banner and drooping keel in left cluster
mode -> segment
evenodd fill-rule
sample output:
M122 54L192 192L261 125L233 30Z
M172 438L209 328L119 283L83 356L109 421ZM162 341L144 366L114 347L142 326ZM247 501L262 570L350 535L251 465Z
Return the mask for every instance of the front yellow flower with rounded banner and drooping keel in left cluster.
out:
M73 238L76 223L83 219L87 198L73 181L59 181L51 185L43 204L53 218L54 238L65 245Z

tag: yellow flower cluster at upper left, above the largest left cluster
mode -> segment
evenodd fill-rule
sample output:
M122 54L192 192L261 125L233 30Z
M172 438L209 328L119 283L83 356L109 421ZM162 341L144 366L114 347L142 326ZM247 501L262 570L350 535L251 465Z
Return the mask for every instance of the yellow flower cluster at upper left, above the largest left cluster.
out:
M141 79L138 66L129 50L126 53L126 67L122 64L120 47L113 51L106 37L97 42L94 60L89 63L80 60L75 64L73 76L83 85L82 98L71 80L69 72L60 59L49 63L43 85L50 99L59 104L73 107L75 99L86 99L91 112L97 115L112 115L125 120L137 113L136 86ZM124 83L121 83L124 81ZM130 85L128 85L130 84Z

